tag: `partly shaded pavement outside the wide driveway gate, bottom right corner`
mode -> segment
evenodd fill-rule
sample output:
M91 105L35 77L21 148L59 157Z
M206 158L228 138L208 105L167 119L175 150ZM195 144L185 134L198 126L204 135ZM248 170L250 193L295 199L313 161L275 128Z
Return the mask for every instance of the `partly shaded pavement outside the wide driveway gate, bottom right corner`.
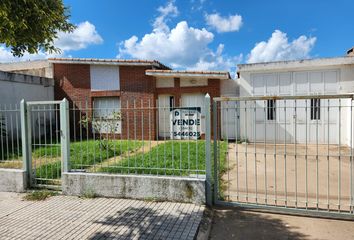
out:
M348 240L354 222L215 208L210 239Z

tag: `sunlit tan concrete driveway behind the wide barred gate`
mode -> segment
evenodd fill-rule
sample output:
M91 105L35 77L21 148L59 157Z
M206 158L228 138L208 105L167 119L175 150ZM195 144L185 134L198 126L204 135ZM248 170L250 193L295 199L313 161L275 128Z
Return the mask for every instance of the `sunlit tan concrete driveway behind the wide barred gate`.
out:
M230 143L228 152L226 200L350 210L348 147L341 147L340 158L337 145Z

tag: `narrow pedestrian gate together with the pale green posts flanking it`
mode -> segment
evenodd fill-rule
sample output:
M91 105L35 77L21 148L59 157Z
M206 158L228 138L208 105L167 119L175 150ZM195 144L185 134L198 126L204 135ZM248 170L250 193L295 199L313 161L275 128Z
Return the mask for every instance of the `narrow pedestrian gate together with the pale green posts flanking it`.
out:
M62 101L21 102L25 169L30 187L60 189L69 158L69 106Z

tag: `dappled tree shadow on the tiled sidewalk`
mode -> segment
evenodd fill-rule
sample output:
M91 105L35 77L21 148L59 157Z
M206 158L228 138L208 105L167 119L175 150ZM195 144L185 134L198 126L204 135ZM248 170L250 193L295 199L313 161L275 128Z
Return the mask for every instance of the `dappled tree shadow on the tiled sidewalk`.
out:
M90 239L193 239L201 214L182 213L175 209L171 214L153 207L129 207L106 217L96 224L106 226Z

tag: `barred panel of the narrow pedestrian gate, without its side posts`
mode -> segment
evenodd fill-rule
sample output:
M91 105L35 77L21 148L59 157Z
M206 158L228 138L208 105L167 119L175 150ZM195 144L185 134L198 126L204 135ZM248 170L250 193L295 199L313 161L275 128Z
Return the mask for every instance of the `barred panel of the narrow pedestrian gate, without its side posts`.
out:
M62 149L60 104L62 101L26 103L28 156L27 164L32 187L60 188ZM26 131L25 130L25 131Z

